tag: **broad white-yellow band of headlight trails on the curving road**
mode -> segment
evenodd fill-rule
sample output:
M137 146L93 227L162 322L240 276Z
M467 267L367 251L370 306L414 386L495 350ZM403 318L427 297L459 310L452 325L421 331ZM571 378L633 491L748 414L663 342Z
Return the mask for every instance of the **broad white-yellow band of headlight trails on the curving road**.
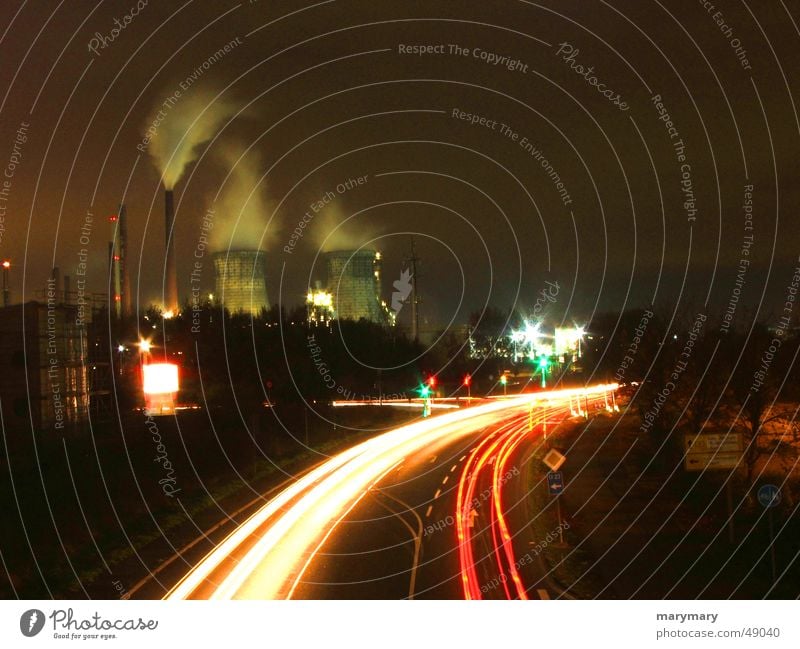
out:
M288 599L339 522L406 457L524 413L542 398L616 385L531 393L447 412L362 442L297 480L234 530L165 599ZM570 397L571 398L571 397Z

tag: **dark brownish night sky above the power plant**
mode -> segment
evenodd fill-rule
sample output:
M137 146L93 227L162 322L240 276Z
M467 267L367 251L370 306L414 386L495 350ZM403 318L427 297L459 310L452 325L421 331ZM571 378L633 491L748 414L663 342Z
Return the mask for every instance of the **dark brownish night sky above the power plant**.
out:
M195 106L225 107L230 119L198 145L175 187L181 299L202 216L235 185L216 206L217 231L236 192L254 189L265 213L250 210L241 232L267 251L274 302L281 290L287 304L302 299L323 239L352 217L339 240L384 253L389 301L415 235L423 313L438 324L487 301L531 309L546 280L561 287L556 319L653 300L719 310L750 234L742 304L755 310L763 297L770 317L800 254L800 3L714 4L150 0L132 15L135 0L3 2L0 166L18 164L0 200L0 255L14 264L14 299L35 297L53 264L74 276L87 211L96 217L88 282L102 290L110 227L98 219L124 201L138 301L160 300L163 185L151 149L137 145L194 74L158 129L191 130L183 115ZM107 40L93 53L98 34ZM410 45L444 53L399 51ZM569 47L578 52L565 60ZM519 64L492 65L481 52ZM677 137L659 120L656 94ZM454 109L496 125L472 125ZM560 176L568 205L523 138ZM696 213L684 206L680 140ZM230 153L248 147L258 173L231 170ZM315 215L286 254L310 204L359 176L366 182Z

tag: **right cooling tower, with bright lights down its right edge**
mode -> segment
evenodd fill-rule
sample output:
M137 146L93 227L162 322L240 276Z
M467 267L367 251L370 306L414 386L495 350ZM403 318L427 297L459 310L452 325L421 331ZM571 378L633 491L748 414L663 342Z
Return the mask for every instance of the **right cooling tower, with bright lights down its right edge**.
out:
M340 320L385 322L381 307L381 255L375 250L336 250L326 253L328 291Z

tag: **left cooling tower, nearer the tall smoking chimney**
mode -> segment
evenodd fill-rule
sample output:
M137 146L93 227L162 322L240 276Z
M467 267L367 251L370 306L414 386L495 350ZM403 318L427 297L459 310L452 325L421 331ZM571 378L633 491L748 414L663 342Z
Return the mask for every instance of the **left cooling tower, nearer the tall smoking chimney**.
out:
M216 297L231 313L261 315L268 309L266 259L258 250L214 253Z

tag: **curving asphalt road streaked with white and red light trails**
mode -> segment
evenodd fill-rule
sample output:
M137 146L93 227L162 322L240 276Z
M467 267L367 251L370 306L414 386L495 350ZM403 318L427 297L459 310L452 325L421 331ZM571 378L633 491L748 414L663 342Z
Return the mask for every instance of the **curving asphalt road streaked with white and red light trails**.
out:
M167 598L549 597L529 545L529 458L548 426L607 404L615 387L496 399L348 449L276 495Z

